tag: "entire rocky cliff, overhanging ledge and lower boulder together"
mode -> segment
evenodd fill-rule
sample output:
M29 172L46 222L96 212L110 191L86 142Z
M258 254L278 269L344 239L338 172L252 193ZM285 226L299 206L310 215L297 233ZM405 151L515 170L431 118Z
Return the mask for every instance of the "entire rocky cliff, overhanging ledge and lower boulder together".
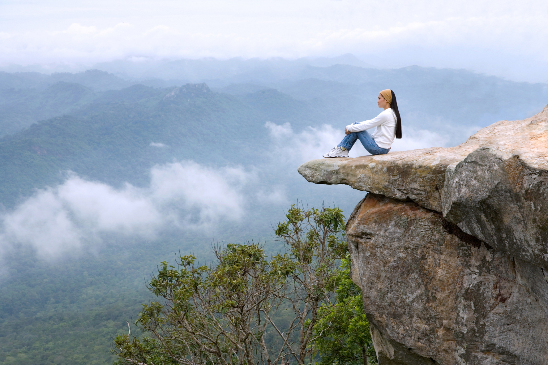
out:
M299 172L372 193L346 230L381 365L548 363L548 107Z

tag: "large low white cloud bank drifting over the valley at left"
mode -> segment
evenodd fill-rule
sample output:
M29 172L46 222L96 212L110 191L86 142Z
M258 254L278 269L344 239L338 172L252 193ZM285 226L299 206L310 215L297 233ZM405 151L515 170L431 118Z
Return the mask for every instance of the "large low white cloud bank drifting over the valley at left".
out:
M147 189L130 184L115 189L72 175L1 217L0 251L24 244L54 257L77 252L102 234L150 239L167 227L210 230L220 220L242 218L242 189L253 179L241 167L214 169L193 161L153 167Z

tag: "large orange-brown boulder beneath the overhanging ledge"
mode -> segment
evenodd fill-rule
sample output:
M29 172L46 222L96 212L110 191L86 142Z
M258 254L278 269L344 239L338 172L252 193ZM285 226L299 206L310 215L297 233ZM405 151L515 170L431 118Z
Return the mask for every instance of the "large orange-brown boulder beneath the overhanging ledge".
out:
M544 272L414 202L368 194L347 223L379 364L543 364Z

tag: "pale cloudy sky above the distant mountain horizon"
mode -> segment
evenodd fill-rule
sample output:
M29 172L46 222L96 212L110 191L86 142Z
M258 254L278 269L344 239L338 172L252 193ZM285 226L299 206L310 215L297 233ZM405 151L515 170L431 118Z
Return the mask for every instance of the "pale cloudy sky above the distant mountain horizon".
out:
M538 0L93 0L0 3L0 67L346 53L377 67L548 82Z

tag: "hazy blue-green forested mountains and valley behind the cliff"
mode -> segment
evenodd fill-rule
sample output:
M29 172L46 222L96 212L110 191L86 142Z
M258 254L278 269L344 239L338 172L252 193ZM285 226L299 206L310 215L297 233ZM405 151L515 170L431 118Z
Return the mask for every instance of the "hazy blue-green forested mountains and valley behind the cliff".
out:
M496 120L522 119L548 103L546 84L465 70L230 62L203 61L202 68L174 62L171 73L132 77L98 70L0 72L0 364L109 363L110 336L127 330L125 321L149 299L144 283L160 260L179 250L200 256L216 239L266 239L274 252L271 224L296 199L340 204L349 215L362 192L312 186L296 167L302 159L320 157L326 146L316 146L316 140L329 140L326 134L378 114L376 95L382 89L398 97L402 141L416 142L402 148L427 147L421 131L433 136L429 146L458 144ZM84 237L83 248L70 246L53 258L8 234L14 217L25 222L31 219L25 212L47 214L33 201L74 174L94 187L119 194L137 190L146 198L158 191L151 193L153 173L181 161L211 172L199 181L209 190L217 187L209 188L208 178L232 173L226 186L236 190L214 198L236 192L235 201L245 199L237 205L245 208L242 213L229 206L213 222L199 207L184 205L174 211L189 209L189 219L213 223L199 229L168 224L150 236L82 230L91 232L92 243ZM191 183L192 177L181 182ZM168 198L169 204L191 199ZM97 224L79 222L82 217L67 219L82 227Z

